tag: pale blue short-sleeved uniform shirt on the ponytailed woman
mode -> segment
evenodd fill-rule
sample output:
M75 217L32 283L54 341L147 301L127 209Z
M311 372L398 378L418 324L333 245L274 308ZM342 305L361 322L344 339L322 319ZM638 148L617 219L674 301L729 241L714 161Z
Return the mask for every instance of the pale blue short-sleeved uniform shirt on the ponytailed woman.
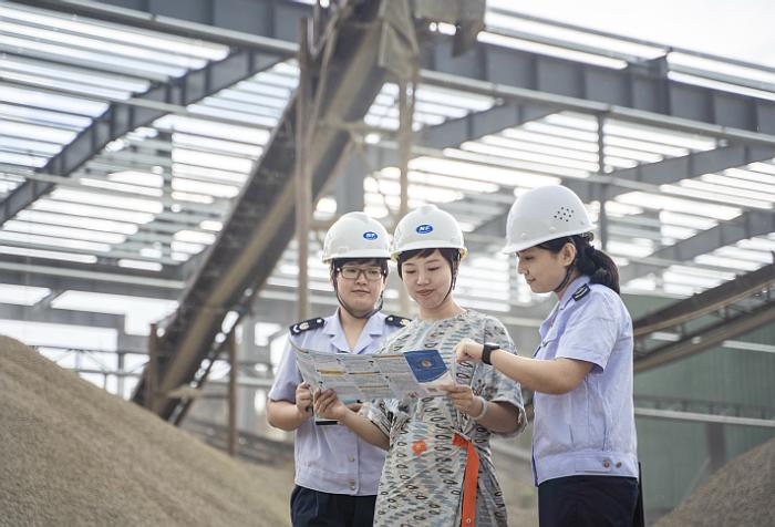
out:
M538 359L577 359L592 369L572 391L536 393L536 485L564 476L638 477L632 405L632 319L616 291L574 280L539 329Z

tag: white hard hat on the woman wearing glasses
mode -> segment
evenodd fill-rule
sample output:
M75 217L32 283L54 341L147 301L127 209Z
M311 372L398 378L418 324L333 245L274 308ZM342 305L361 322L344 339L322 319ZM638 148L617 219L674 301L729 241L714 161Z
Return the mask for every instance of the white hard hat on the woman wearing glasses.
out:
M390 258L388 230L365 213L342 215L323 241L323 262L334 258Z

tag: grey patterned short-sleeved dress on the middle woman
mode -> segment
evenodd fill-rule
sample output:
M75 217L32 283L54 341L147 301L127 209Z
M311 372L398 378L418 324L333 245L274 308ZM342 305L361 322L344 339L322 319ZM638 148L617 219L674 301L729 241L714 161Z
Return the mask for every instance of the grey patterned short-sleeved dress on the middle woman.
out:
M402 353L437 349L457 383L471 385L487 401L518 409L519 426L526 417L519 384L487 364L454 364L453 348L464 337L477 342L496 342L514 353L514 343L495 318L468 310L456 317L414 320L386 341L376 353ZM382 400L364 406L362 413L390 437L376 497L374 526L459 526L463 480L467 451L453 444L455 433L473 442L479 455L476 526L506 526L506 505L495 476L489 448L493 432L458 412L447 397Z

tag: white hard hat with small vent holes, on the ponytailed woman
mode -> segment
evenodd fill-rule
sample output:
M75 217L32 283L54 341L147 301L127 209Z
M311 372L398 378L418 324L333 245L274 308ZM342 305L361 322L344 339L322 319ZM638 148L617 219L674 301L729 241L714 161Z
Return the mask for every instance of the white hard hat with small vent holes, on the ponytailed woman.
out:
M534 188L512 205L503 251L517 252L593 228L583 203L570 188L560 185Z

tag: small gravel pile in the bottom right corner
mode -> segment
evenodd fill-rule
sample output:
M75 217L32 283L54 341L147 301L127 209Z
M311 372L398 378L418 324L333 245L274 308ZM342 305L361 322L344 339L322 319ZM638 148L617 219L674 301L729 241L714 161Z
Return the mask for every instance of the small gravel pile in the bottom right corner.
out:
M775 526L775 440L713 474L657 527Z

